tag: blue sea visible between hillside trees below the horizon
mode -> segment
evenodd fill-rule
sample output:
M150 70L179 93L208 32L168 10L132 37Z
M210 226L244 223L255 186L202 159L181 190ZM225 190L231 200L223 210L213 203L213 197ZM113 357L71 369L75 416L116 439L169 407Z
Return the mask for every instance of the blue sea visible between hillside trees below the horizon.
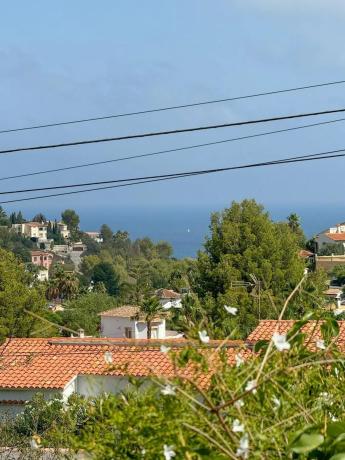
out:
M329 226L345 221L345 205L271 205L266 206L271 218L281 221L294 212L300 216L308 238ZM209 234L210 215L221 206L119 207L109 209L77 209L84 231L98 230L103 223L113 231L127 230L132 239L150 237L171 243L174 257L195 257Z

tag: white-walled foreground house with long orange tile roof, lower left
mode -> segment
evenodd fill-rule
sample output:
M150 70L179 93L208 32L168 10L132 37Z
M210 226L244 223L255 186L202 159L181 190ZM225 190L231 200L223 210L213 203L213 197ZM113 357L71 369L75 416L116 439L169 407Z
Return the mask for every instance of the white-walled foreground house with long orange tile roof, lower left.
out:
M130 377L172 379L194 377L195 367L176 369L169 354L160 351L161 341L96 338L11 338L0 346L0 416L21 412L26 401L42 393L67 401L70 395L97 396L130 387ZM187 341L165 341L178 351ZM211 341L209 348L225 348L235 363L240 341ZM205 348L203 348L205 352ZM214 350L212 350L214 355ZM242 350L243 356L250 352ZM198 374L206 385L210 373Z

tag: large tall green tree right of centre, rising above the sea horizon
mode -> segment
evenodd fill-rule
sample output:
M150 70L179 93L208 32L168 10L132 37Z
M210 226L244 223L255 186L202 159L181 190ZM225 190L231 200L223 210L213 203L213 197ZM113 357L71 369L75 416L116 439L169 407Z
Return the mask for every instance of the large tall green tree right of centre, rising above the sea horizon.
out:
M194 289L207 300L218 334L236 327L243 336L259 318L272 317L272 299L279 304L302 277L299 238L288 224L272 222L254 200L213 214L210 231L198 254ZM253 279L260 283L259 295ZM226 314L225 304L236 306L238 315Z

